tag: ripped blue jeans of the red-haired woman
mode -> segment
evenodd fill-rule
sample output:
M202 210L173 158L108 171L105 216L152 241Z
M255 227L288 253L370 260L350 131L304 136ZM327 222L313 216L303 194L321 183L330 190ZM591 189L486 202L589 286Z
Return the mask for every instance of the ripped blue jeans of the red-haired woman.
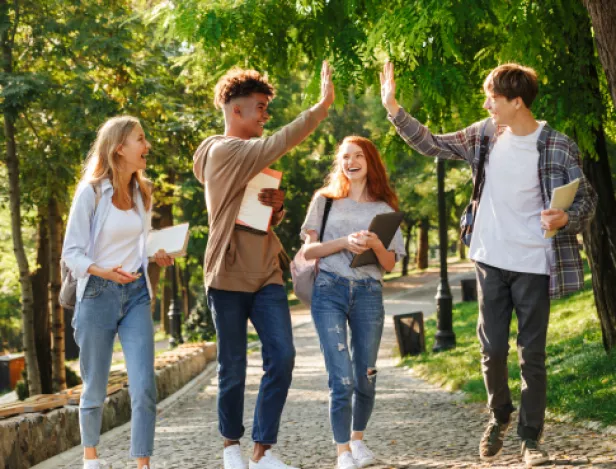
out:
M320 271L311 311L329 375L334 440L345 444L351 439L351 425L353 431L363 432L374 408L375 366L385 316L381 282Z

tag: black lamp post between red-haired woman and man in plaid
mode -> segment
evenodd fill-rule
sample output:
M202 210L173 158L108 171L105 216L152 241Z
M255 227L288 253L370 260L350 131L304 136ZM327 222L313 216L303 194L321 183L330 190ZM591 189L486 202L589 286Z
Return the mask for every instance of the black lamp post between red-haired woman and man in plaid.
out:
M450 350L456 346L453 332L452 296L447 280L447 214L445 210L445 161L436 158L438 185L438 237L441 257L441 279L436 290L436 335L433 352Z

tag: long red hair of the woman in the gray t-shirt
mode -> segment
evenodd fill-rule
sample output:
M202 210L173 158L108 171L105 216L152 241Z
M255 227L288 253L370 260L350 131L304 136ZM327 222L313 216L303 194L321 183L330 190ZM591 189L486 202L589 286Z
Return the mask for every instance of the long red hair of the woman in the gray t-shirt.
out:
M338 146L338 151L336 152L336 161L331 172L327 176L326 184L317 191L317 194L332 199L343 199L349 196L351 184L342 171L342 165L339 158L340 148L344 143L353 143L354 145L357 145L362 149L364 156L366 157L366 161L368 163L366 189L368 190L368 197L370 200L382 200L394 210L399 210L400 204L398 202L398 196L389 185L389 178L387 177L387 172L385 171L385 165L383 164L381 154L377 150L376 146L374 146L374 143L367 138L359 137L357 135L345 137L345 139L340 143Z

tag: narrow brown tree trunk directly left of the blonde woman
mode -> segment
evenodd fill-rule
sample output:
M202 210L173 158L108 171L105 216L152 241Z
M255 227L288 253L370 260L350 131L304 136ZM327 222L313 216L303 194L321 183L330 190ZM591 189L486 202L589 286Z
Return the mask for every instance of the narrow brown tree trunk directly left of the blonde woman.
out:
M49 221L49 310L52 324L52 371L54 392L66 389L64 368L64 311L60 306L60 256L62 254L62 217L52 196L48 204Z

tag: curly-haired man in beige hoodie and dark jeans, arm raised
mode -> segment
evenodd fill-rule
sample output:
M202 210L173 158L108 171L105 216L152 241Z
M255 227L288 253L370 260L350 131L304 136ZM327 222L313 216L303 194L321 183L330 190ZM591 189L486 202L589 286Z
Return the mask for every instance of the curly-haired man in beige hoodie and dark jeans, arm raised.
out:
M225 117L224 135L199 146L193 171L205 186L209 236L204 280L218 340L218 419L224 438L225 469L245 469L239 440L244 434L248 319L262 343L263 369L254 413L255 442L250 469L293 469L277 459L280 416L291 385L295 348L291 315L273 231L236 225L248 182L312 133L334 101L331 70L321 70L321 100L270 137L262 138L274 89L254 70L234 69L215 89L215 105ZM272 194L262 203L272 205Z

